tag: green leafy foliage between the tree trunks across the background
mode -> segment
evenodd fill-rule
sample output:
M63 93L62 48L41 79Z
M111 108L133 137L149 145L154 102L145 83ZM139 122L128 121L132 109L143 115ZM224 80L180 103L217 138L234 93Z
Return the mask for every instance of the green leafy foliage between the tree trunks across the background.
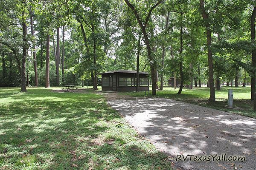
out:
M155 0L130 0L145 23L150 8ZM212 52L215 79L229 81L235 77L239 68L239 81L253 71L251 67L251 51L256 47L250 40L249 19L255 0L205 0L205 8L209 12L209 23L212 30ZM56 85L55 57L52 36L56 37L56 28L65 26L64 45L64 81L60 73L61 85L81 84L82 80L92 83L92 72L104 72L117 69L136 70L137 47L141 28L133 11L122 0L5 0L0 4L0 86L19 86L20 73L18 63L21 62L23 36L20 23L26 21L29 28L29 10L35 20L35 37L27 31L29 46L26 72L29 84L35 85L32 59L32 44L35 41L38 63L39 85L45 83L46 38L51 35L50 42L50 84ZM169 26L166 27L169 12ZM84 28L86 40L81 31ZM180 27L183 27L183 53L180 55ZM176 73L180 78L179 63L183 62L184 81L190 83L191 78L207 81L207 46L204 21L202 20L199 2L192 0L165 0L153 10L149 17L147 29L150 39L152 59L148 59L148 51L144 37L140 40L140 71L150 71L150 63L157 66L164 82ZM61 35L62 36L62 35ZM96 46L95 54L93 53ZM165 48L162 65L163 47ZM155 50L153 50L155 49ZM3 68L3 52L5 68ZM174 59L172 59L174 57ZM96 64L94 63L94 58ZM193 64L193 71L189 65ZM198 74L198 68L201 72ZM6 70L7 76L3 75ZM245 73L245 72L247 73ZM249 80L250 74L247 76ZM73 78L75 77L75 78Z

